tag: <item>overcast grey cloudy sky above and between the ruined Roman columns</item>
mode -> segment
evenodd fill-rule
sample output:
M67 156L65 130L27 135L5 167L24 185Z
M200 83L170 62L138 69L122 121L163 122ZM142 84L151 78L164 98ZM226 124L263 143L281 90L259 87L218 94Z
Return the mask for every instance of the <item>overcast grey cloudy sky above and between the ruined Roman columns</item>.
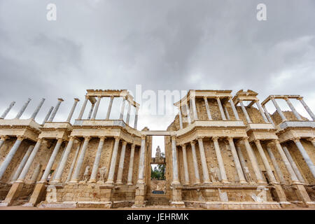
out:
M57 6L56 21L46 20L48 3ZM266 21L256 19L258 3L267 6ZM45 97L41 123L62 97L55 120L64 121L78 97L74 119L86 89L134 91L137 84L155 91L251 89L260 101L301 94L315 111L314 12L313 0L0 0L0 113L14 100L7 117L14 118L31 97L22 116L29 118ZM102 99L98 119L108 102ZM112 118L119 107L117 100ZM270 103L267 109L274 111ZM146 114L138 127L165 130L173 119Z

